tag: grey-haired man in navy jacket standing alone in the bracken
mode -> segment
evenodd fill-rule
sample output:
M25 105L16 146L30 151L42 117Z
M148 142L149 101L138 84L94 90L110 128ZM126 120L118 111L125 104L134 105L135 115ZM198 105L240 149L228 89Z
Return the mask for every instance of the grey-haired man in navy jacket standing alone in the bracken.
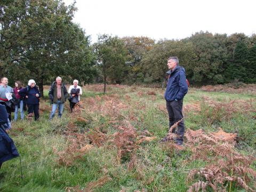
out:
M169 129L174 123L180 121L183 118L182 105L183 97L188 92L188 85L186 81L185 69L179 66L178 57L170 57L167 62L167 66L170 69L167 71L168 82L164 93L166 100L166 108L169 114ZM184 120L178 124L178 129L172 130L172 133L176 133L174 139L177 145L183 144L183 137L185 132ZM163 139L167 140L167 137Z

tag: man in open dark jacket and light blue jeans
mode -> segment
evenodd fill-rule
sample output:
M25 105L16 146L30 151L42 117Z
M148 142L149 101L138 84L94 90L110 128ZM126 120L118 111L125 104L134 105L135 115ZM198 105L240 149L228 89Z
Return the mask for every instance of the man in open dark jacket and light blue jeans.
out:
M61 117L64 109L64 103L68 97L67 88L61 83L61 81L61 77L57 77L56 81L52 83L51 89L49 90L49 97L52 103L50 120L54 117L57 107L59 107L59 118Z

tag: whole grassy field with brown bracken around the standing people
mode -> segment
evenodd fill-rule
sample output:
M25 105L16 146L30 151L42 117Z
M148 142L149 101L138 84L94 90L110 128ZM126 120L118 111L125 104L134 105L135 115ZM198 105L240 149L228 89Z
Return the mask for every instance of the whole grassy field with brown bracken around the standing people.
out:
M255 88L255 86L254 86ZM75 113L18 121L9 132L21 156L3 163L0 191L255 191L255 89L189 88L183 147L168 132L162 89L83 87ZM47 90L45 91L47 95ZM172 138L173 135L169 134Z

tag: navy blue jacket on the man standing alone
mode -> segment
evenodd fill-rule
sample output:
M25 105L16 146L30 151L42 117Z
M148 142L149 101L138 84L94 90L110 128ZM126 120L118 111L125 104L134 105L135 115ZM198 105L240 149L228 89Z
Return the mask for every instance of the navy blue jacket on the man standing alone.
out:
M167 71L169 79L167 82L164 98L166 101L181 100L188 92L185 69L176 66L173 71Z

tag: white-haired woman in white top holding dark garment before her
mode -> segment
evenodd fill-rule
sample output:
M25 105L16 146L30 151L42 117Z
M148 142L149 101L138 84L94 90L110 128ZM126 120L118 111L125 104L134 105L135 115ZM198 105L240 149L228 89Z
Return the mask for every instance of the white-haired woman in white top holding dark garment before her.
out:
M72 112L76 103L80 101L80 95L82 95L82 88L78 85L78 80L75 79L73 81L73 85L69 86L68 93L70 94L69 102L70 102L70 111Z

